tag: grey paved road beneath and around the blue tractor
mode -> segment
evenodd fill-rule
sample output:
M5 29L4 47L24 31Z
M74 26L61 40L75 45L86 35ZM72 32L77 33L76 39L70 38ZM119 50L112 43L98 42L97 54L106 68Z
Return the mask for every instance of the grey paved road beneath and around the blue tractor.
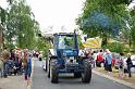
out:
M83 84L72 76L61 77L59 84L51 84L47 73L41 68L41 62L35 60L32 89L132 89L110 79L93 74L90 84Z

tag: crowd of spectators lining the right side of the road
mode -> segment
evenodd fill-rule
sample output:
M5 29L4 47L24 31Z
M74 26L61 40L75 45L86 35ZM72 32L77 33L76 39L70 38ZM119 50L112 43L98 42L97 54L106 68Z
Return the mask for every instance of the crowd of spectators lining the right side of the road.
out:
M110 52L109 49L106 50L99 50L99 51L91 51L91 50L85 50L84 55L88 56L90 60L93 60L94 62L94 66L97 67L105 67L105 71L107 71L109 74L112 72L112 66L114 66L114 62L113 61L114 54L113 52ZM119 59L116 59L118 61L118 69L119 69L119 76L120 77L124 77L125 76L125 72L124 72L124 55L123 53L118 53L119 54ZM127 60L125 61L126 65L127 65L127 73L128 73L128 77L132 77L131 74L131 67L133 66L132 60L131 60L131 54L127 54Z

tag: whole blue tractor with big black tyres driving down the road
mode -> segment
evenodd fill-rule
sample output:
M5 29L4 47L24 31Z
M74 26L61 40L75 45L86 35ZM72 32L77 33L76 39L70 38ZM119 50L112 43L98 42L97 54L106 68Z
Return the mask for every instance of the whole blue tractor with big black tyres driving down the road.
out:
M59 81L59 74L73 73L83 82L91 79L91 64L86 56L78 55L78 36L75 33L53 35L52 48L48 52L47 72L51 82Z

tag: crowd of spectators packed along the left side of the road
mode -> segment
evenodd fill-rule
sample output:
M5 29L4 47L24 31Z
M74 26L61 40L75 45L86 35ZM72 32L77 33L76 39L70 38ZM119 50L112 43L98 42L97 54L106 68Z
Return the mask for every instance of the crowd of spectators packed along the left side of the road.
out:
M4 48L0 53L1 77L7 78L13 74L24 74L24 79L29 80L32 74L32 56L38 55L38 52L33 52L28 49L15 48L9 51Z

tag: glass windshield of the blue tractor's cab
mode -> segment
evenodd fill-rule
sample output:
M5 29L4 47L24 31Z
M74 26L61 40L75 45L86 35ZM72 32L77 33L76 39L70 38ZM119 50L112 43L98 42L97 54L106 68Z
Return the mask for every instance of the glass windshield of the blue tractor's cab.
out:
M74 36L59 36L59 49L75 49Z

